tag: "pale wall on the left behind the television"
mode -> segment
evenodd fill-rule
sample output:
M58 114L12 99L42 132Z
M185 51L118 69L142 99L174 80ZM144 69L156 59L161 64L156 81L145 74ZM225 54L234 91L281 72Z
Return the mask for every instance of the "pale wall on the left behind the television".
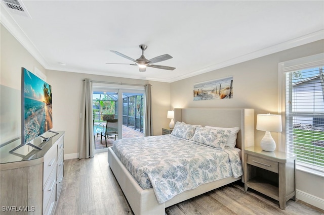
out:
M0 24L0 144L21 136L21 68L46 75L46 70Z

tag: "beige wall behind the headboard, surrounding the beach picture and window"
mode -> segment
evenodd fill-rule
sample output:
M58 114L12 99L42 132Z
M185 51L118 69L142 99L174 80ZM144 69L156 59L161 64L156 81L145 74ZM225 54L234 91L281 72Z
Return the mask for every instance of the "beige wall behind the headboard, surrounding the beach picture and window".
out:
M324 52L324 40L280 51L272 55L218 69L171 83L172 108L252 108L257 114L278 114L278 63ZM193 100L193 84L233 76L233 98ZM217 120L217 119L215 119ZM271 132L276 143L278 133ZM255 130L255 145L264 132ZM278 145L277 145L278 148ZM324 209L324 177L297 171L297 198ZM315 198L313 198L315 196Z

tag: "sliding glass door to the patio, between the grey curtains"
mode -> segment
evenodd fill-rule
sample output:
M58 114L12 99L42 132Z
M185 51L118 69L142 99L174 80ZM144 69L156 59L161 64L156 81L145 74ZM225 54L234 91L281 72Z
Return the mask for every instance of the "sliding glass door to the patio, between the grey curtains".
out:
M95 149L144 136L144 87L93 83Z

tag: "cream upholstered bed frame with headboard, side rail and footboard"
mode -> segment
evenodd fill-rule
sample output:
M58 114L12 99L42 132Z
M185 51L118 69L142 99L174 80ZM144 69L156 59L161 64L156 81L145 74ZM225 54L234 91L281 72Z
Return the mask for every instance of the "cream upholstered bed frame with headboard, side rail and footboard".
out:
M241 149L242 165L244 166L244 149L254 146L254 109L175 109L174 111L175 122L183 121L188 124L202 126L239 127L240 131L237 134L236 147ZM160 204L156 200L153 188L143 190L120 162L111 147L108 148L108 164L136 215L164 215L166 207L244 179L244 177L228 177L203 184Z

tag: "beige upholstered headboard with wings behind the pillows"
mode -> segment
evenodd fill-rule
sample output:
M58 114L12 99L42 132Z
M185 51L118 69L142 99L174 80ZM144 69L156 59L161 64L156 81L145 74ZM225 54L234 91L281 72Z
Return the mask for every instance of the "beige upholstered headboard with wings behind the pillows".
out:
M254 146L254 109L175 109L174 121L192 125L239 127L236 147ZM244 162L244 156L242 156Z

